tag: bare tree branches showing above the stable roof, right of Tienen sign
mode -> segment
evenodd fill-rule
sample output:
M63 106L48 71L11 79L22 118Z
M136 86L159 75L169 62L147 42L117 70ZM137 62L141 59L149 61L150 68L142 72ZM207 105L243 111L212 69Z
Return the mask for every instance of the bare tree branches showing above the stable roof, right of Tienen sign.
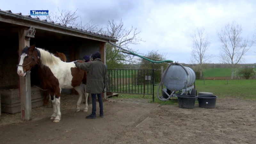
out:
M83 29L92 32L102 32L103 27L99 27L90 20L83 24L81 16L77 15L77 10L72 12L71 10L61 10L58 8L58 12L50 12L47 16L38 16L40 20L53 21L54 23L60 23L61 25L67 25L68 27Z

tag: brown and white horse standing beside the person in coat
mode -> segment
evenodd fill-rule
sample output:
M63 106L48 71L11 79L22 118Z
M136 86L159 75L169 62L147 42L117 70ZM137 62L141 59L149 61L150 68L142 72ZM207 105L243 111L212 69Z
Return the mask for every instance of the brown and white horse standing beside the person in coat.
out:
M83 61L78 60L78 62ZM74 62L64 62L52 53L41 48L36 48L35 44L30 47L26 46L21 52L20 63L17 65L18 75L23 77L26 76L26 73L36 65L41 67L42 73L44 74L46 89L51 95L53 107L51 119L54 119L53 122L59 122L61 119L60 93L62 88L75 88L79 93L76 111L80 111L80 103L86 89L87 72L76 68ZM81 87L83 84L85 88L84 90ZM87 98L84 111L88 111Z

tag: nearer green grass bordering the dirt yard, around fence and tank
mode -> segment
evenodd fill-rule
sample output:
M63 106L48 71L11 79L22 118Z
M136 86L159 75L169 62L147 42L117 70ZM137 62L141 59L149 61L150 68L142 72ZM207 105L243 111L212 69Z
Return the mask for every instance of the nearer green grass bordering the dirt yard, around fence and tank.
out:
M204 84L205 83L205 84ZM196 80L197 92L212 92L219 98L231 97L241 100L256 100L256 80ZM154 87L155 102L160 104L177 105L177 98L168 101L161 101L157 98L158 85ZM159 91L161 95L161 91ZM114 97L116 98L116 97ZM119 99L143 98L152 102L152 95L119 93Z

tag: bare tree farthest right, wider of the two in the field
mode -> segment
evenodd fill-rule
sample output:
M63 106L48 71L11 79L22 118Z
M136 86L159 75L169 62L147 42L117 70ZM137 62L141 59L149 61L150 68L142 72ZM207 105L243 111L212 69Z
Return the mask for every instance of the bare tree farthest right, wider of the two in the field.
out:
M224 28L221 28L221 32L217 34L222 43L220 47L220 61L232 68L231 79L233 79L237 63L243 60L244 54L250 50L253 41L250 41L248 37L243 38L241 36L242 26L234 21L232 24L228 23Z

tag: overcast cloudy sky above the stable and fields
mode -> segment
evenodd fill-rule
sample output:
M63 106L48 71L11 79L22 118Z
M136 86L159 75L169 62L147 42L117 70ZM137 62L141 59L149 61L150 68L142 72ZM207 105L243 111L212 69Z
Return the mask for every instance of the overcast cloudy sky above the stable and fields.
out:
M188 63L192 41L191 32L204 26L212 43L209 52L219 54L220 41L216 32L228 22L242 25L242 36L252 39L256 22L254 0L13 0L2 1L1 10L29 14L30 10L76 10L83 21L106 25L108 20L121 18L126 28L132 25L141 31L146 42L130 45L134 50L147 53L159 50L167 59ZM255 53L247 52L244 63L255 63ZM214 58L218 63L218 58Z

